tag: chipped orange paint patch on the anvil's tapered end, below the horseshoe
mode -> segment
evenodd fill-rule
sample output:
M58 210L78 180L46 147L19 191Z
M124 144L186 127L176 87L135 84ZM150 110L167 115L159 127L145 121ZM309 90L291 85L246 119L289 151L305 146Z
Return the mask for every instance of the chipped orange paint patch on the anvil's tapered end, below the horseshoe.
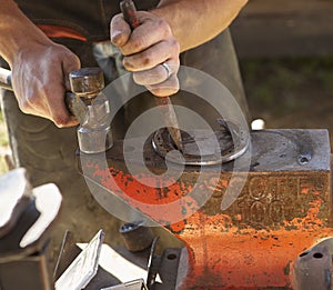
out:
M155 176L131 176L113 168L100 169L99 164L90 164L93 168L93 179L97 179L100 184L108 188L118 197L125 200L133 208L140 209L151 219L167 226L172 222L161 217L173 217L173 220L179 220L178 224L172 228L176 232L184 227L184 217L188 212L198 210L196 201L188 194L192 190L191 184L174 182L171 180L171 186L160 189L157 183L159 180ZM170 181L170 180L169 180ZM154 182L157 187L150 187ZM163 180L161 180L163 182ZM164 209L157 206L173 204ZM163 210L165 212L163 212ZM168 211L168 212L167 212Z

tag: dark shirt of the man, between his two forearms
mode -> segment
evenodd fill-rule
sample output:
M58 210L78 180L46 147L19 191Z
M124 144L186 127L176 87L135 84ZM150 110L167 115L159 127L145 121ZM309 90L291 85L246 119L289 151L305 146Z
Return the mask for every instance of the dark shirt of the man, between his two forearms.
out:
M120 12L119 0L18 0L20 9L37 24L69 27L82 33L89 42L110 38L111 18ZM135 1L138 10L149 10L158 0Z

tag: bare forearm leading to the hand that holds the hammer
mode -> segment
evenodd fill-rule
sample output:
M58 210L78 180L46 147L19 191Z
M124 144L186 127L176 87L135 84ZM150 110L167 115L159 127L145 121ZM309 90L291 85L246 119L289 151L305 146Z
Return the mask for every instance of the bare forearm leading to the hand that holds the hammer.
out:
M0 9L0 56L9 64L22 48L46 44L50 40L18 8L12 0L2 0Z

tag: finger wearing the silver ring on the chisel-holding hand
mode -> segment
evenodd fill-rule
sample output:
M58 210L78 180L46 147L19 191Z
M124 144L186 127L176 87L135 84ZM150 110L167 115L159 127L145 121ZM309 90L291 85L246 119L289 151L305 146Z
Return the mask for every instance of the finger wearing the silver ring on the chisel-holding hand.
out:
M164 61L164 63L169 67L169 70L163 67L163 64L159 64L149 70L134 72L133 79L135 83L141 86L158 84L168 80L172 74L178 72L179 59L170 59Z

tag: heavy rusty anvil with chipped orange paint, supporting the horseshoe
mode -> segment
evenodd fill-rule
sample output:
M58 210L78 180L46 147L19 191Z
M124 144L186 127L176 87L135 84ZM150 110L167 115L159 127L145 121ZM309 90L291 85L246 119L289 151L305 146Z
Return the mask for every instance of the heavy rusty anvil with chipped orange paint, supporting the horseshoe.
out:
M243 156L219 167L168 168L151 139L142 153L134 138L115 141L105 153L80 153L80 171L108 210L109 198L117 197L184 242L188 259L178 257L169 289L331 289L332 242L320 243L333 234L327 131L261 130L250 137ZM140 154L143 164L135 163ZM250 164L242 168L246 154ZM182 173L167 180L172 174L164 173L178 167ZM165 209L175 220L161 218L171 217ZM162 284L154 289L167 289Z

